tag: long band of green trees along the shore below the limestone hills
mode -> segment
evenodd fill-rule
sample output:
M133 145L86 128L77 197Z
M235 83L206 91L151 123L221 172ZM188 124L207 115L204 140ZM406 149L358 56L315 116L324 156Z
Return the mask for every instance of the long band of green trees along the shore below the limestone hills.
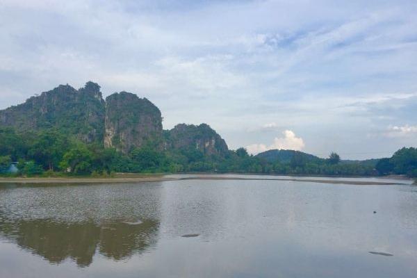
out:
M417 151L400 149L392 158L383 158L377 167L361 163L340 163L332 153L327 159L309 160L295 154L289 163L267 161L247 154L243 148L224 155L207 155L194 146L160 149L149 142L122 154L99 144L85 144L58 131L16 133L0 129L0 172L17 161L19 175L109 175L114 172L236 172L258 174L309 174L372 176L377 174L417 175Z

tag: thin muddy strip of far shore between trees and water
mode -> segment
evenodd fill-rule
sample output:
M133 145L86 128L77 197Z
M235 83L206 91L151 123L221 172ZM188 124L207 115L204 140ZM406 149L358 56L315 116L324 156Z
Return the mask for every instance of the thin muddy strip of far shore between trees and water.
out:
M247 175L246 175L247 176ZM336 177L335 177L336 178ZM250 181L304 181L310 183L337 183L362 186L391 186L409 183L382 181L350 181L342 179L301 179L292 178L259 178L259 177L224 177L223 174L191 174L190 177L175 177L171 174L117 174L115 177L0 177L0 183L140 183L152 181L180 180L250 180Z

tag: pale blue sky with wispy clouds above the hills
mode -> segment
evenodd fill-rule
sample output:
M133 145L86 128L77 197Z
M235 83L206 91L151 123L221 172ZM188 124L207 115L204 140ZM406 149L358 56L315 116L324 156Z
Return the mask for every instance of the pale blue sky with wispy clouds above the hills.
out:
M229 148L417 147L417 1L0 0L0 109L59 84L147 97Z

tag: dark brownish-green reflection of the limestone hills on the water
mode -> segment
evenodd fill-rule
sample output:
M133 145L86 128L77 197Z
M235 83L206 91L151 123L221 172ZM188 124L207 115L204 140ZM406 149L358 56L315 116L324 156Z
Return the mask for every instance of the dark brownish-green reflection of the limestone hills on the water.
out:
M0 215L1 216L1 215ZM52 220L8 220L0 217L0 234L51 263L74 259L79 266L92 263L96 250L109 259L120 260L142 253L156 242L159 223L111 222L70 223Z

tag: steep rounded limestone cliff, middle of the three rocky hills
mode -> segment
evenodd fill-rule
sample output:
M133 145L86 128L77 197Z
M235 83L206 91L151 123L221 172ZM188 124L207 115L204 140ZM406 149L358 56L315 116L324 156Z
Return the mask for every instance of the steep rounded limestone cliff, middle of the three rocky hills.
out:
M106 98L104 146L129 153L133 147L150 142L160 145L162 117L158 107L130 92Z

